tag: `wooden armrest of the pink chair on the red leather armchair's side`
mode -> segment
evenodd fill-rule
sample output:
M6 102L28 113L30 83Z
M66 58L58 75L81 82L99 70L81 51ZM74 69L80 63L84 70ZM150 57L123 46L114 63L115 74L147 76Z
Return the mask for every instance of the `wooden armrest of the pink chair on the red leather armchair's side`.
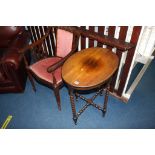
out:
M43 37L41 37L39 40L37 40L36 42L30 44L30 45L27 45L26 47L24 48L21 48L19 49L19 52L20 54L24 54L27 50L32 50L34 47L40 45L43 43L43 41L48 37L49 33L51 31L51 27L48 28L47 32L45 33L45 35Z

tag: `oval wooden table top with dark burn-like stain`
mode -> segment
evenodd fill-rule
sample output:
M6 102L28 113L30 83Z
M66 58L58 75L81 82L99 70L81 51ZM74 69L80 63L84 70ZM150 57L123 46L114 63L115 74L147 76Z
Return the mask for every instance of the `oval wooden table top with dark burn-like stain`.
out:
M78 90L104 84L117 70L119 59L106 48L87 48L69 57L62 67L62 78Z

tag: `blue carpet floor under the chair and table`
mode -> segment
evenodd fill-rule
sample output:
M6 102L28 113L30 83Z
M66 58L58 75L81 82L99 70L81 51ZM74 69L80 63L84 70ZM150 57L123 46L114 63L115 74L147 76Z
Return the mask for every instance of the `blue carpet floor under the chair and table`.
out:
M53 91L37 82L34 93L29 80L22 94L0 94L0 126L8 115L13 118L9 129L141 129L155 128L155 61L145 72L128 104L110 96L108 111L102 113L88 107L74 125L66 87L60 91L62 111L59 112ZM90 94L92 95L92 94ZM88 95L89 96L89 95ZM95 100L103 103L103 96ZM76 103L77 109L83 101Z

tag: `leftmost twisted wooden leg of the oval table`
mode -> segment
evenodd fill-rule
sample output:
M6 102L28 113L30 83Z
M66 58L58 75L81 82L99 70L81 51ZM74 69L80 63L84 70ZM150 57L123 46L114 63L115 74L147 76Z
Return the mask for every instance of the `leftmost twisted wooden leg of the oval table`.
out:
M70 96L70 103L71 103L72 114L73 114L73 121L76 125L77 124L77 115L76 115L74 95L73 95L73 89L72 88L69 88L69 96Z

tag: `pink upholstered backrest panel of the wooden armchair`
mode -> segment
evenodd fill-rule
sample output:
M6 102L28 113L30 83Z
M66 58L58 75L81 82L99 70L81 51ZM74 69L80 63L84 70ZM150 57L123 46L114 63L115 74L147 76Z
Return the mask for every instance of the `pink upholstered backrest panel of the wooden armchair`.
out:
M72 50L73 33L57 29L56 34L56 55L65 57Z

